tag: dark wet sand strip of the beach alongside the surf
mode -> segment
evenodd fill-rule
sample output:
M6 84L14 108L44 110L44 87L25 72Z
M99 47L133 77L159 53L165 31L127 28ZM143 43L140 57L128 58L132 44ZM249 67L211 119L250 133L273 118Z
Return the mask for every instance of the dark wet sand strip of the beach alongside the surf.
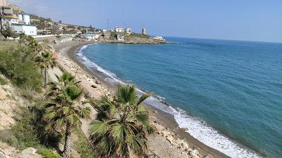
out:
M55 49L56 51L58 51L58 49L65 49L63 51L66 52L65 53L60 52L61 55L63 55L65 58L69 58L73 60L76 64L78 64L79 67L82 68L82 70L85 70L87 74L90 74L90 76L93 76L94 78L99 80L103 86L108 87L109 90L114 93L116 90L116 87L114 85L104 81L104 79L102 79L102 77L100 77L99 74L90 70L76 56L76 53L78 53L80 48L88 44L93 44L93 42L76 42L76 44L72 44L72 46L64 46L69 44L60 44L61 46L56 45L55 47L57 48ZM202 157L207 155L212 155L212 157L228 157L226 154L223 154L222 152L219 152L218 150L215 150L214 148L209 147L204 143L201 143L200 140L193 138L192 136L190 136L188 132L185 131L185 129L180 129L172 114L163 112L157 109L157 107L152 107L150 105L145 105L145 107L147 108L147 110L149 110L150 119L152 119L154 123L163 126L165 129L168 129L168 131L171 131L172 133L171 135L174 137L174 139L184 140L186 143L188 143L189 147L192 147L192 149L197 149L200 152L200 155L202 155Z

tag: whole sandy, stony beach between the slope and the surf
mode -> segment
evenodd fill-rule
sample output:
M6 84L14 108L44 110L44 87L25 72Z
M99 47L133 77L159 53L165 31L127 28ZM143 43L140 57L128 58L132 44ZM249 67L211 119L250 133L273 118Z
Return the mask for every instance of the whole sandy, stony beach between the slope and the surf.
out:
M75 74L93 98L104 95L111 97L116 87L104 81L98 73L85 67L75 56L79 48L86 44L91 42L69 41L54 45L59 65ZM149 149L152 154L157 154L158 157L228 157L193 138L185 129L178 128L171 114L149 105L145 106L149 110L152 124L157 128L157 133L149 138Z

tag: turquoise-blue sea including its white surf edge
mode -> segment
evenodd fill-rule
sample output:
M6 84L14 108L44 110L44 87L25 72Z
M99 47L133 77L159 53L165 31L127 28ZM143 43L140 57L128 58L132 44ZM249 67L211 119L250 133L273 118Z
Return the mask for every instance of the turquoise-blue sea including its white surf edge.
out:
M154 92L149 104L228 156L282 157L282 44L167 39L176 44L92 44L78 57Z

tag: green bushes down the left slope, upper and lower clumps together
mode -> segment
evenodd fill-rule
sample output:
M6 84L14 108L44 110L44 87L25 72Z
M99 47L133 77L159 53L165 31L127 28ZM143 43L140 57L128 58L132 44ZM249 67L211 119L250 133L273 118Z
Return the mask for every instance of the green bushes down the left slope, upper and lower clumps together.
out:
M39 56L39 44L30 37L30 42L23 39L20 43L8 44L0 49L0 73L28 96L27 105L15 110L16 124L11 129L0 131L0 140L18 150L35 147L42 157L59 158L59 154L50 150L56 148L61 135L45 130L47 122L42 119L45 112L45 99L37 98L44 87L42 67L36 60ZM42 49L41 49L42 50ZM0 77L0 84L6 84Z

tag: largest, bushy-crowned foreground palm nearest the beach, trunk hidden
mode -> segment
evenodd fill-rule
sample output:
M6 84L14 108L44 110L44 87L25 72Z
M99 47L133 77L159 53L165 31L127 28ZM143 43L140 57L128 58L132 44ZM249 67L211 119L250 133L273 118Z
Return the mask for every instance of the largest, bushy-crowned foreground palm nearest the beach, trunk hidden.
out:
M90 140L99 157L144 157L147 154L147 135L154 132L147 110L139 100L134 86L118 86L116 100L103 97L97 107L97 120L90 124Z

